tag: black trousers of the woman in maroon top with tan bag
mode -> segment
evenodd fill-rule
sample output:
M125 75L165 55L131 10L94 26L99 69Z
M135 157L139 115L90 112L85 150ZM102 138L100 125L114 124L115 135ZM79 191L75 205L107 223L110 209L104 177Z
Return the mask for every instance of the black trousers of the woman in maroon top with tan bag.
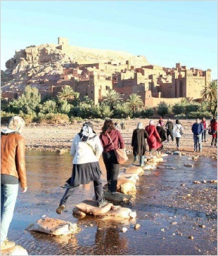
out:
M103 152L102 155L107 170L108 189L110 192L116 192L120 164L115 157L115 151Z

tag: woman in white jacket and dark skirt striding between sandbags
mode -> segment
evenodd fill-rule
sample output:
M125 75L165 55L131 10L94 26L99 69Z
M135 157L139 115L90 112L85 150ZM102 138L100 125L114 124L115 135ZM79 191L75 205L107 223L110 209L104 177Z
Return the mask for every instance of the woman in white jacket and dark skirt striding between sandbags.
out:
M68 200L73 196L75 188L82 184L89 184L91 181L94 182L94 193L98 207L105 204L101 169L98 163L102 151L101 141L93 130L93 124L85 122L81 131L72 140L70 148L70 155L73 157L72 177L66 181L69 186L56 209L58 215L62 214L68 204Z

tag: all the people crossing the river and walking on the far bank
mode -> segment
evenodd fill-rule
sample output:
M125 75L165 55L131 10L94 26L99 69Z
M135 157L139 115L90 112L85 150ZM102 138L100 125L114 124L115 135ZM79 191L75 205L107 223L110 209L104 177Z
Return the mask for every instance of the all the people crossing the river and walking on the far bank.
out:
M22 188L21 192L27 191L25 139L20 135L24 125L24 120L15 116L9 120L8 128L3 129L1 132L1 250L15 245L15 243L8 241L7 234L18 196L18 185L20 184ZM165 131L164 127L167 131ZM212 129L212 143L217 146L217 120L215 117L210 122L210 129ZM162 142L169 141L169 136L172 141L176 138L177 148L179 149L183 130L179 120L172 124L172 121L168 119L165 124L160 118L157 126L155 126L153 120L150 120L145 128L143 128L143 123L139 122L132 134L134 161L138 161L139 155L139 164L143 165L146 141L150 153L157 151L160 154L163 148ZM192 126L195 151L197 151L197 145L199 145L199 151L201 151L201 140L203 137L206 138L205 130L207 130L205 119L202 122L197 119ZM68 205L75 188L81 184L89 184L90 181L94 183L96 205L102 207L107 203L103 196L101 168L98 162L101 155L107 172L108 191L112 195L116 193L120 169L120 164L117 162L114 151L117 148L124 149L125 144L122 134L116 129L113 120L105 120L100 136L94 132L91 122L85 122L82 125L82 129L72 140L70 148L70 155L73 157L72 175L66 181L68 186L66 186L63 198L61 198L56 209L59 215Z

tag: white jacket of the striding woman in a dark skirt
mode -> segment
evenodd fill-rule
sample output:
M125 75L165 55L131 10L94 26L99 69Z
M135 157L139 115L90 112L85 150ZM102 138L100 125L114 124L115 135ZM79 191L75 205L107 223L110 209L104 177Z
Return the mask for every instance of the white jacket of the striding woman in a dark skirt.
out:
M96 134L91 134L90 137ZM86 164L88 162L98 162L103 152L101 141L98 136L88 141L81 141L79 134L72 140L70 155L73 156L73 164Z

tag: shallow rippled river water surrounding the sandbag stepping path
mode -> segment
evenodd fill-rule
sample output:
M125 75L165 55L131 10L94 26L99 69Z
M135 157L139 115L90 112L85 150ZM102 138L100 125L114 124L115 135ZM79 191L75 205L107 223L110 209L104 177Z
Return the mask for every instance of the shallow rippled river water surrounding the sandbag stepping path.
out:
M76 203L93 197L92 183L79 186L72 205L69 203L63 215L56 214L65 192L60 186L71 175L71 162L70 153L26 153L28 191L18 195L8 238L23 246L29 255L217 255L217 219L214 215L211 218L206 215L207 206L215 207L217 203L217 184L193 184L195 180L217 179L216 160L199 158L194 161L177 155L165 157L159 169L146 171L136 184L136 199L127 205L136 211L136 220L122 222L72 216ZM188 162L193 168L184 167ZM100 165L105 184L102 158ZM205 189L206 194L203 193ZM193 202L186 199L188 193L193 196ZM82 231L71 239L27 231L27 227L42 215L76 222ZM172 225L172 222L177 224ZM137 231L134 230L136 223L141 225ZM199 228L199 224L206 228ZM126 233L120 231L124 226L128 229ZM188 236L194 236L194 240Z

